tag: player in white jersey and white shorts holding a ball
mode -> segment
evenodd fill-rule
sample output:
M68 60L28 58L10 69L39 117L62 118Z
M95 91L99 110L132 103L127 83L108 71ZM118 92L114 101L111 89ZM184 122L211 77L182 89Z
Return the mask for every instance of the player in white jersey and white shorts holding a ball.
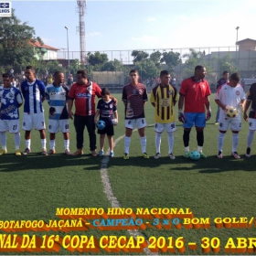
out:
M239 132L241 129L240 114L236 117L228 118L226 112L228 107L234 107L239 109L245 101L245 94L243 88L239 84L240 74L233 73L230 76L228 83L219 87L219 90L215 96L215 102L220 107L219 112L219 136L218 136L218 158L222 158L222 148L224 144L225 134L229 128L232 131L232 152L231 155L236 159L240 159L240 155L237 153L237 147L239 144Z

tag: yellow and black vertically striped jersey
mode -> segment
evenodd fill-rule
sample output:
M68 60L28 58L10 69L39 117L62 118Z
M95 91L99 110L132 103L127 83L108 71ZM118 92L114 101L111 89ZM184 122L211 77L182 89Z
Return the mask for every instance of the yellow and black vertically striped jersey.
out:
M175 122L174 106L177 101L176 88L156 85L151 91L150 102L155 103L155 123Z

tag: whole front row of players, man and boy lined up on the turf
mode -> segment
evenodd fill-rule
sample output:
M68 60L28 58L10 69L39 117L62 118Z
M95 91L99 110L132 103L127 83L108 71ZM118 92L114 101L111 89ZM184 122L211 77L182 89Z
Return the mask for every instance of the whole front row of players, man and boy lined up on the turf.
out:
M24 114L22 129L25 130L26 149L23 155L31 152L31 130L33 127L39 131L42 144L42 155L53 155L55 150L55 137L59 131L63 133L64 149L66 155L83 154L83 133L87 127L90 138L91 155L104 155L104 138L107 134L110 144L110 156L113 156L113 125L118 122L116 99L110 91L101 88L91 82L85 70L77 72L77 83L73 84L70 91L64 84L64 74L56 71L54 81L45 87L41 80L36 79L36 72L32 66L27 66L25 72L27 80L21 84L21 91L11 85L10 76L3 75L4 86L0 87L0 140L2 150L0 155L7 153L6 132L14 133L16 155L21 155L20 132L19 132L19 112L18 108L23 104ZM189 157L189 134L195 125L197 131L197 151L201 158L206 158L202 151L204 144L204 128L206 122L211 117L208 96L210 89L208 81L205 80L206 69L203 66L195 68L194 76L183 80L178 101L178 120L183 123L183 141L185 146L184 157ZM140 135L142 155L149 158L146 154L146 137L144 128L147 123L144 116L144 104L147 99L145 86L139 82L139 73L136 69L130 71L130 83L123 87L122 101L125 108L125 136L124 136L124 155L123 159L129 159L131 136L136 127ZM174 132L176 131L174 106L177 101L176 88L170 84L171 76L168 71L162 70L160 73L160 83L151 91L150 101L155 107L155 159L161 156L161 135L166 130L168 137L168 155L175 159L173 154ZM219 105L219 136L218 136L218 157L222 158L222 147L225 133L229 125L232 131L232 150L231 155L240 158L237 153L239 143L239 132L241 129L240 114L234 118L228 118L226 112L229 106L243 108L244 119L249 120L248 148L246 156L251 156L251 143L256 130L256 84L252 84L248 92L247 101L243 88L240 86L240 75L234 73L230 80L219 86L215 101ZM101 98L98 102L97 112L95 97ZM47 152L46 125L43 112L43 101L48 101L48 132L50 139L50 150ZM68 102L68 106L67 106ZM75 102L75 113L72 112L73 102ZM251 104L252 102L252 104ZM245 103L245 104L244 104ZM251 105L249 116L247 111ZM95 124L98 117L104 120L106 126L103 130L98 130L101 134L101 149L96 153L96 134ZM69 118L74 118L76 130L77 151L73 154L69 151ZM113 122L113 119L115 120Z

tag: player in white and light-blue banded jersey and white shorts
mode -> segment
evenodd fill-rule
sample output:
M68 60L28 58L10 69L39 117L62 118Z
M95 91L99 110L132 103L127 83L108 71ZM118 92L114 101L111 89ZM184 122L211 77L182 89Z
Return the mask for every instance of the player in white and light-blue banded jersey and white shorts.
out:
M55 136L59 131L63 133L65 154L69 151L69 113L67 102L69 101L69 88L64 84L64 74L60 71L54 73L54 81L46 87L46 100L49 104L48 132L50 150L48 155L56 153Z

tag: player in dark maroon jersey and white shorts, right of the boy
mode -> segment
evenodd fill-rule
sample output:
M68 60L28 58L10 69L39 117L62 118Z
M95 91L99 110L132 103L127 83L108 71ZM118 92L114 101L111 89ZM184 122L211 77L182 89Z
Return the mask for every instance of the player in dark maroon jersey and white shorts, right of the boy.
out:
M131 82L123 87L122 101L125 106L125 137L123 159L129 159L129 149L131 136L136 126L140 135L142 152L144 158L149 158L146 154L146 137L144 127L147 125L144 118L144 104L147 101L147 93L144 84L139 83L139 72L136 69L130 71Z

